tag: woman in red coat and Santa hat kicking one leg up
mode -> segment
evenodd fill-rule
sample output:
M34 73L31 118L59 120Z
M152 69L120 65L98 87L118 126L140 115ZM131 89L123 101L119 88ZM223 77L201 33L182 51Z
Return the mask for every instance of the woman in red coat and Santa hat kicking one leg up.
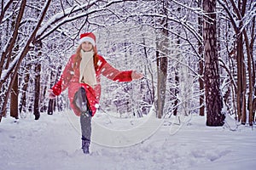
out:
M80 35L76 54L69 59L59 82L49 90L49 98L54 99L68 88L71 108L80 116L82 149L89 154L91 117L95 115L101 94L100 76L113 81L131 82L143 77L136 71L118 71L97 54L96 37L92 32Z

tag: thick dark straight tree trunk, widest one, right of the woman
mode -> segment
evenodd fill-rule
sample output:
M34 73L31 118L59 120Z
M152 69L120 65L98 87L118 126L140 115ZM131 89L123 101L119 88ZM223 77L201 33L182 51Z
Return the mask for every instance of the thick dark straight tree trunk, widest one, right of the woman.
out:
M218 72L218 51L216 32L216 0L204 0L203 10L206 14L203 25L205 56L205 93L207 105L207 126L223 126L224 114Z

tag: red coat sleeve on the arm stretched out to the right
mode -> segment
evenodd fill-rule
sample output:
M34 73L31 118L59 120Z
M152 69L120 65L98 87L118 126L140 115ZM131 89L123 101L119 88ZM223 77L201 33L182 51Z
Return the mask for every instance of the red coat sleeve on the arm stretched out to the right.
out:
M115 69L112 65L108 64L106 59L102 56L99 57L99 70L104 77L117 82L131 82L131 72L132 71L119 71Z

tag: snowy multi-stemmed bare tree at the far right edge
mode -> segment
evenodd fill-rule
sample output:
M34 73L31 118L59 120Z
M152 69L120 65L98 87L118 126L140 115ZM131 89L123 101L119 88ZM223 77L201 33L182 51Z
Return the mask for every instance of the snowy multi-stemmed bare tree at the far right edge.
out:
M236 106L238 121L247 122L247 109L249 111L249 124L253 126L253 98L255 95L255 59L253 59L253 44L255 42L255 6L253 1L220 1L231 26L235 31L236 44L230 54L236 56ZM254 11L254 12L253 12ZM236 22L236 20L240 20ZM248 82L247 82L248 80ZM247 105L247 106L246 106Z

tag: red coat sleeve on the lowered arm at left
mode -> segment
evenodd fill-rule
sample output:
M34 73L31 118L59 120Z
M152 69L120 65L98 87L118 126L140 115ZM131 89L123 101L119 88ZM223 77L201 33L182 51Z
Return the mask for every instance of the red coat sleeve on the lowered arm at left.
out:
M60 95L62 91L64 91L72 79L74 74L73 71L73 56L68 60L67 65L65 66L64 71L62 72L61 78L55 85L51 88L53 94Z

